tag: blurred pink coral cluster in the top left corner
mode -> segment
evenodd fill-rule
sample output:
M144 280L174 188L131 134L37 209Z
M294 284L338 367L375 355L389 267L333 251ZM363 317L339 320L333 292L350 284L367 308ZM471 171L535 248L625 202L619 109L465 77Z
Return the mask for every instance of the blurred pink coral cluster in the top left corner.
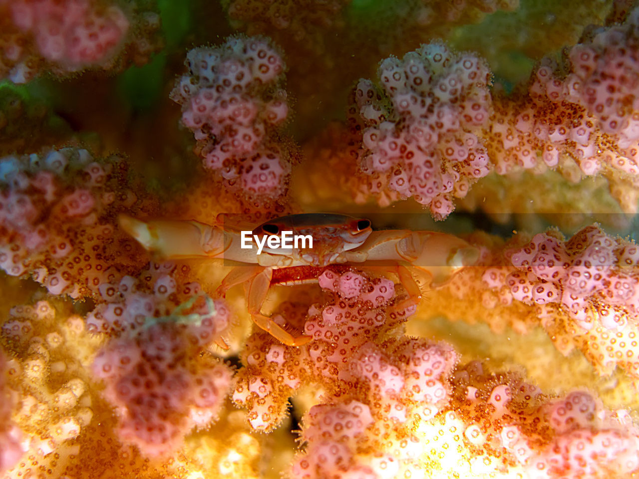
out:
M0 0L0 79L24 83L130 61L157 50L157 13L110 0Z

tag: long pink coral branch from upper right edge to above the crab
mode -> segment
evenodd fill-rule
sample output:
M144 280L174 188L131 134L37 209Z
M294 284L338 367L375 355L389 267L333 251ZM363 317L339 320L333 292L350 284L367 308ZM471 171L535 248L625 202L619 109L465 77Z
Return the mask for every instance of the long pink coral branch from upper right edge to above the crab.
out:
M473 183L481 192L462 204L491 213L526 211L530 202L539 211L549 203L547 183L601 199L578 198L579 206L636 213L638 29L639 9L620 26L593 29L562 63L544 58L530 84L510 95L489 91L482 59L440 43L422 45L401 61L389 57L378 70L380 85L362 79L355 87L344 126L350 135L330 126L309 144L309 155L334 164L337 178L325 183L341 183L356 202L387 206L413 197L436 219L447 217ZM523 177L539 194L519 199L525 171L541 176ZM326 179L325 169L317 174ZM585 180L589 176L600 178ZM484 202L486 196L500 201ZM574 208L561 195L549 198L550 211L563 208L562 201Z

